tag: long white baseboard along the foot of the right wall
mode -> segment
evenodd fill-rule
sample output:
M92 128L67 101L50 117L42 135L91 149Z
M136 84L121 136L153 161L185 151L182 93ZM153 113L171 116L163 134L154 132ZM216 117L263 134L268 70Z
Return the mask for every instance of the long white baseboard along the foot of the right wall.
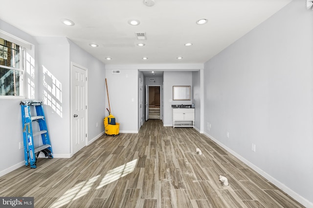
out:
M290 189L289 187L287 187L285 184L281 183L280 181L278 181L277 179L273 178L271 175L269 175L267 172L265 172L264 170L260 169L259 167L255 166L253 163L249 162L248 160L246 160L244 157L242 157L240 154L238 154L237 152L231 150L230 148L228 148L227 146L225 146L223 143L221 143L219 140L215 139L213 136L211 136L210 134L204 132L204 135L206 135L207 137L209 137L210 139L212 139L214 142L216 142L217 144L219 144L221 147L223 147L226 151L230 152L232 155L234 155L235 157L237 157L239 160L241 160L243 163L245 163L247 166L249 166L251 169L255 170L256 172L258 172L260 175L262 175L263 177L265 177L266 179L268 179L268 181L270 181L272 184L274 184L275 186L277 186L279 189L282 189L283 191L285 191L288 195L290 195L293 199L295 199L296 201L298 201L300 204L302 204L303 206L305 206L306 208L313 208L313 203L310 202L309 200L305 199L304 197L302 197L301 195L299 195L298 193L294 192L292 189Z

